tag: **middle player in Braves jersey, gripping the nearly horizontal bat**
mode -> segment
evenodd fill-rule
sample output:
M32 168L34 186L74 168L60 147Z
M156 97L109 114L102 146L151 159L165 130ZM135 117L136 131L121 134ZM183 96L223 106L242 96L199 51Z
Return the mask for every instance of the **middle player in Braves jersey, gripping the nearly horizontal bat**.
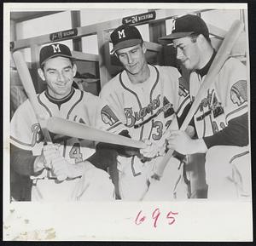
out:
M119 26L111 39L112 52L125 70L105 84L100 96L129 129L131 139L145 140L151 146L142 152L143 157L129 149L119 152L117 157L120 197L140 200L148 188L148 177L166 152L167 130L178 129L180 112L189 105L189 92L179 83L181 75L176 68L148 65L143 37L135 26ZM177 168L179 164L177 158L170 161L170 166ZM182 170L166 171L166 189L155 193L152 199L174 198L172 190L177 186L177 172ZM184 197L187 192L184 185Z

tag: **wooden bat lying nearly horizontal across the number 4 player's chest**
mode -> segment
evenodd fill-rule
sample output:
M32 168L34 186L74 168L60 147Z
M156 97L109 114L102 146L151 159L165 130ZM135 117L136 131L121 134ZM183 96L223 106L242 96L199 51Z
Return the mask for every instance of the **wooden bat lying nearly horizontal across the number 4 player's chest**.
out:
M86 126L84 123L76 123L60 117L49 117L46 127L52 133L67 135L74 138L99 141L120 146L130 146L134 148L146 147L142 141L131 140L119 134L112 134L100 129L94 129Z

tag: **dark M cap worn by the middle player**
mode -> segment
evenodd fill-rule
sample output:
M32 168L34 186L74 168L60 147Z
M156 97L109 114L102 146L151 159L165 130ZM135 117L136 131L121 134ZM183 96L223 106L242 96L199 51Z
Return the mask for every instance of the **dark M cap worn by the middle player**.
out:
M110 37L113 43L111 53L117 51L118 49L128 48L143 42L143 37L137 28L129 25L117 27L111 33Z

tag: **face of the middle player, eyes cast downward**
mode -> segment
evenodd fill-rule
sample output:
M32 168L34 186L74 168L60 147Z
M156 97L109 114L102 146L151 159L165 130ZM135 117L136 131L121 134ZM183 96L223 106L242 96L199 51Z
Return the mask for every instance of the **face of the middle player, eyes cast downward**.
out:
M146 47L144 43L116 51L116 55L125 67L125 70L132 75L142 72L146 66L145 53Z

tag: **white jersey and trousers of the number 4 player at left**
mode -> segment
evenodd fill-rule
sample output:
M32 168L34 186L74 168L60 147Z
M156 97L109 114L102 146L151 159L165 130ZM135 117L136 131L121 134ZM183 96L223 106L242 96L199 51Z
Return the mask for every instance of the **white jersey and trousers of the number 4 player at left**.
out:
M71 93L61 100L50 97L47 91L44 91L38 94L38 104L42 112L49 117L62 117L98 129L110 130L113 133L119 132L122 126L102 100L79 89L72 89ZM59 127L61 128L61 125ZM32 151L33 156L41 154L44 145L43 135L29 100L26 100L15 112L11 120L10 138L13 145L22 150ZM61 144L61 155L73 164L85 160L95 152L94 142L88 140L55 135L53 142ZM96 169L92 165L89 168L84 179L87 179L87 184L93 184L95 181L102 183L102 191L98 186L96 189L90 186L92 189L84 192L86 193L85 199L110 199L113 197L113 185L109 180L108 173ZM46 169L32 178L34 179L32 200L70 200L70 193L81 182L79 178L57 182L53 179L51 172Z

